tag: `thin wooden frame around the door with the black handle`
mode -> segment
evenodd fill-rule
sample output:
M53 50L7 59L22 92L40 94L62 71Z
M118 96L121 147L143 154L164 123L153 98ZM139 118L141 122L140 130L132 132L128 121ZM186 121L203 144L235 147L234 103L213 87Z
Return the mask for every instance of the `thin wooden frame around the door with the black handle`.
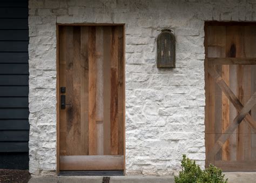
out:
M123 26L123 39L124 39L124 46L123 46L123 63L124 63L124 174L125 174L125 24L108 24L108 23L71 23L71 24L63 24L63 23L57 23L56 24L56 38L57 38L57 51L56 51L56 79L57 79L57 83L56 83L56 98L57 98L57 103L56 103L56 109L57 109L57 154L56 154L56 158L57 158L57 169L56 172L57 174L59 174L59 123L60 123L60 117L59 117L59 107L60 107L60 91L59 91L59 82L60 82L60 76L59 76L59 26Z

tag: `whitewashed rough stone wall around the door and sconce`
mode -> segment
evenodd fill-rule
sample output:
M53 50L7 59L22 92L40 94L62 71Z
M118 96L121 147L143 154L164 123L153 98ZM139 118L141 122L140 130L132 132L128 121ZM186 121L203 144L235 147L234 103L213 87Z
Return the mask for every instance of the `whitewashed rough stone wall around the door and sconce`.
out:
M256 1L30 0L30 172L56 174L56 23L125 23L126 174L176 173L182 154L204 166L204 21L256 21ZM163 28L176 69L156 67Z

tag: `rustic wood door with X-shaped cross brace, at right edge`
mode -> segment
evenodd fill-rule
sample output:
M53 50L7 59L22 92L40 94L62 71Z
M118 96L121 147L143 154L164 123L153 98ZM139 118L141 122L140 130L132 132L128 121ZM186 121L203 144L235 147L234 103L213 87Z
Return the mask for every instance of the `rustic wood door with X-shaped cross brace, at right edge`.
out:
M256 24L205 26L206 166L256 171Z

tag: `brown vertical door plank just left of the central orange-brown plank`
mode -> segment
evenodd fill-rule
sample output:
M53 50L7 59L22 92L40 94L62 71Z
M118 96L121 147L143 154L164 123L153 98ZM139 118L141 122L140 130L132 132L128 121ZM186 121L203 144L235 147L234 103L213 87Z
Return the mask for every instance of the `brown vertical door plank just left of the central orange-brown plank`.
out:
M89 154L89 122L88 122L88 106L89 106L89 28L81 26L81 47L80 62L82 69L81 76L81 141L83 155Z

